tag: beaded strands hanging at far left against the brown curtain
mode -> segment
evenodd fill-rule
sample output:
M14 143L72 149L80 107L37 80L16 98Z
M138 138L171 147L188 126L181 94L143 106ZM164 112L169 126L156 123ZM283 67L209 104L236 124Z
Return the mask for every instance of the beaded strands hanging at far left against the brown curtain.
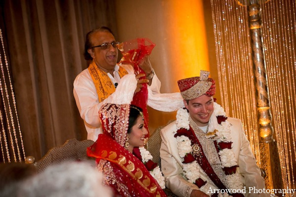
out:
M22 162L26 159L22 132L16 110L16 100L5 53L2 30L0 29L0 147L1 159L5 162ZM19 141L20 140L20 141ZM13 157L12 157L13 156Z

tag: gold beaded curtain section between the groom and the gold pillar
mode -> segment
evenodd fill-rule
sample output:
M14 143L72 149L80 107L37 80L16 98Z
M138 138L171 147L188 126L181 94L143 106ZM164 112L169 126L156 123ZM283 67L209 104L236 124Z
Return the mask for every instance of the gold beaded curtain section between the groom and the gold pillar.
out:
M260 166L248 13L234 0L221 2L211 0L221 102L228 116L242 120Z

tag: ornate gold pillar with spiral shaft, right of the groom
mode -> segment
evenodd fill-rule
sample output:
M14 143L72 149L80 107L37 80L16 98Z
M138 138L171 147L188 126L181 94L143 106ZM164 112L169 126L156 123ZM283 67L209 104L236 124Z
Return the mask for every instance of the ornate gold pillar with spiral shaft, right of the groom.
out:
M257 112L259 123L261 169L265 172L267 189L280 189L283 186L277 144L273 138L272 116L270 113L269 93L261 33L260 5L262 0L248 0L249 30L252 47L254 82L256 88ZM272 164L271 164L271 161Z

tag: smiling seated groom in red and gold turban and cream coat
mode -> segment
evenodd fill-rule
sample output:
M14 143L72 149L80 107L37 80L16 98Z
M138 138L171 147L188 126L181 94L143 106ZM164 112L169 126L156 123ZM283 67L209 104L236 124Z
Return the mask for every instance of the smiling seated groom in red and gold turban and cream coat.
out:
M215 80L209 72L178 81L185 108L161 131L161 167L166 186L179 197L270 196L263 189L242 123L227 118L214 102Z

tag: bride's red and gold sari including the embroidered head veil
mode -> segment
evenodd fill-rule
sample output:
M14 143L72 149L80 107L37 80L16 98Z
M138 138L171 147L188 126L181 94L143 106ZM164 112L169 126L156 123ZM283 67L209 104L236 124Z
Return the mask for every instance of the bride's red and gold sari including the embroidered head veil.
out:
M122 197L166 197L142 161L124 148L130 105L108 103L102 108L106 112L100 110L104 134L87 148L87 155L97 158L107 184Z

